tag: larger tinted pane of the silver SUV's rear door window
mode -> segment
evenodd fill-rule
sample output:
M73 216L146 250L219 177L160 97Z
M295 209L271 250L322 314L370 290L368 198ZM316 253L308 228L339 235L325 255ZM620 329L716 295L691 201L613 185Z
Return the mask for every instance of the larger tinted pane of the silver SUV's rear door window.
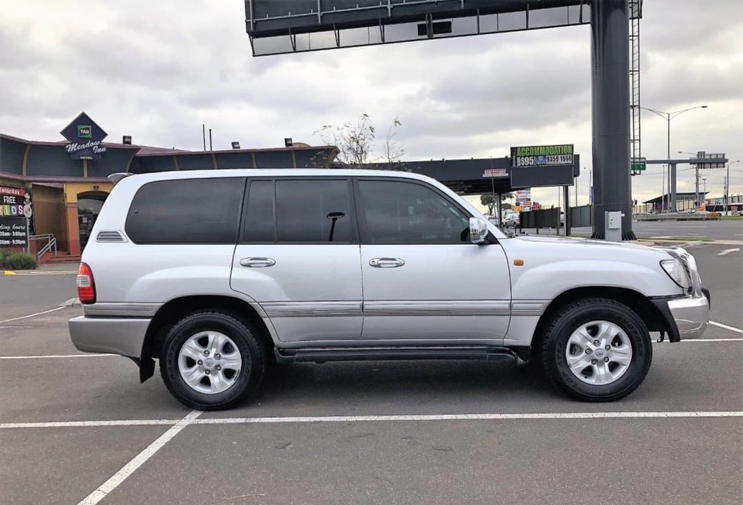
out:
M278 241L351 241L349 200L346 180L276 180Z

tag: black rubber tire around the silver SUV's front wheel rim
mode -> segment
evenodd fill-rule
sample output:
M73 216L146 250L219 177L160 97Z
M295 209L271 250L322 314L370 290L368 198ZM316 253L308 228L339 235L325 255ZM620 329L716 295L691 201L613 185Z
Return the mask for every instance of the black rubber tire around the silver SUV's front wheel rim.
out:
M606 385L578 379L568 367L565 349L571 334L592 321L607 321L621 328L632 345L632 361L624 374ZM620 400L643 382L652 362L650 333L640 316L612 299L580 299L565 305L545 327L539 351L542 368L551 382L572 397L589 402Z

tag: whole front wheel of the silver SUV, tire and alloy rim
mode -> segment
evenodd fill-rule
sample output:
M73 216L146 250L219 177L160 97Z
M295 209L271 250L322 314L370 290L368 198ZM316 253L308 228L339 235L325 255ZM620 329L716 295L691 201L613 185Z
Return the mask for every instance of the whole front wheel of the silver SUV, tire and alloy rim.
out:
M555 384L580 400L619 400L643 382L652 361L645 323L611 299L563 307L547 325L542 366Z

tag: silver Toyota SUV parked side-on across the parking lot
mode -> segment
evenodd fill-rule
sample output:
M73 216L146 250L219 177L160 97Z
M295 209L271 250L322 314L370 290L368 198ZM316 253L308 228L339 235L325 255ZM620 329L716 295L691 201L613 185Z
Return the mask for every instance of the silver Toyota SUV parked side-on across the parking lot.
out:
M408 172L114 175L77 276L81 351L155 371L182 403L229 408L271 362L531 360L580 400L643 382L650 331L700 336L683 249L508 238ZM708 294L708 293L707 293Z

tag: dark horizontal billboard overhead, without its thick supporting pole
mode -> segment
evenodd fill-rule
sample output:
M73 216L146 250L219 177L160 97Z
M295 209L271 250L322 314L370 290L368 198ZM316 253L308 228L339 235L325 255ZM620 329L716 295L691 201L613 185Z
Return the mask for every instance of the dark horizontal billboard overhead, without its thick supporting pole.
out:
M585 25L587 0L245 0L253 56Z

